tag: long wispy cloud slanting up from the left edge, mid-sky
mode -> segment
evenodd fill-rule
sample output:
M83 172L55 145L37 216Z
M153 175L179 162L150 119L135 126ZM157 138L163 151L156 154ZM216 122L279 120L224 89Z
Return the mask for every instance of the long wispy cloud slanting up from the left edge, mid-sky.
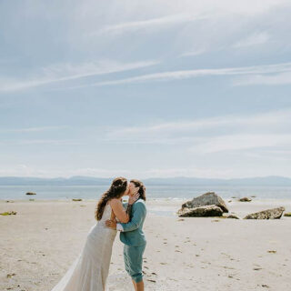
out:
M57 64L43 67L37 76L26 80L16 80L0 77L1 91L19 91L40 85L75 80L92 75L105 75L129 70L135 70L150 65L156 65L158 61L142 61L135 63L119 63L111 60L84 63L79 65Z

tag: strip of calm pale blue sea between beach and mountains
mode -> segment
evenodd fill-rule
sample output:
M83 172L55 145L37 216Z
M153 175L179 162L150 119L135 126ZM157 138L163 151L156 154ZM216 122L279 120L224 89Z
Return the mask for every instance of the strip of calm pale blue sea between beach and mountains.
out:
M0 186L0 200L5 199L98 199L106 186ZM215 191L223 198L256 196L258 198L291 199L291 186L146 186L148 198L193 198ZM36 196L26 196L35 192Z

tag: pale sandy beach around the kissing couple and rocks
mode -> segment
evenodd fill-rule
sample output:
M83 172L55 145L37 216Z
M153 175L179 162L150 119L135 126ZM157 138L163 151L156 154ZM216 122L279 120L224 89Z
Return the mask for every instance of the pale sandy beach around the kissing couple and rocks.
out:
M237 220L179 218L183 201L147 202L146 290L288 290L291 288L291 217ZM291 200L227 203L246 214ZM95 224L95 201L0 201L0 290L50 291L81 251ZM116 236L108 290L133 290Z

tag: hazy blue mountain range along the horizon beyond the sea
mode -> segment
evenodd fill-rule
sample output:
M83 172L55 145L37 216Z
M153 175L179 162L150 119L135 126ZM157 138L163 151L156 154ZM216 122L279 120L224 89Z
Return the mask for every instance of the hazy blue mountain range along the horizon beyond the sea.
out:
M103 186L109 185L112 178L91 176L72 176L69 178L37 178L37 177L0 177L0 186ZM284 176L264 176L236 179L209 179L196 177L147 178L146 186L291 186L291 178Z

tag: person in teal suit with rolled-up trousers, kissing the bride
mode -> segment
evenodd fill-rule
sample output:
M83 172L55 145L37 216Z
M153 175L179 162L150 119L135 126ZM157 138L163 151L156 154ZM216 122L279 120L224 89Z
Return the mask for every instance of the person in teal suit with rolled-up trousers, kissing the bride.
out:
M136 193L139 194L139 198L132 209L128 208L130 206L127 203L124 203L126 211L129 211L130 221L127 224L116 224L114 220L107 220L106 226L120 231L120 240L125 244L125 270L132 278L135 291L144 291L142 266L146 248L146 237L143 232L146 218L146 187L139 180L131 180L128 196L134 196Z

